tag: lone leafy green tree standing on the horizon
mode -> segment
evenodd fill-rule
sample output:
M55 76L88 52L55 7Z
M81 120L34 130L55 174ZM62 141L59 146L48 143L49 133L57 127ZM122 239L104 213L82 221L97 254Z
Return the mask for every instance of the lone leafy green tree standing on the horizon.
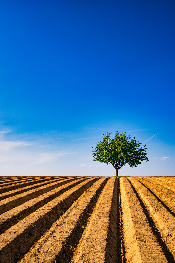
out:
M129 164L130 167L137 167L141 164L141 161L148 161L147 153L142 143L135 140L135 136L127 136L126 133L116 131L115 137L110 139L111 132L103 134L102 141L95 141L95 149L93 151L93 161L98 161L103 164L112 164L116 170L116 176L118 176L118 170L125 164Z

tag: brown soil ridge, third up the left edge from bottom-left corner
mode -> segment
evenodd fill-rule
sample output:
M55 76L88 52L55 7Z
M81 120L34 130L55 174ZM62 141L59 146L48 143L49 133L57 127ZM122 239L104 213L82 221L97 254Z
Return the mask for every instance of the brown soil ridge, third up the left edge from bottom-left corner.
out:
M38 188L34 188L32 190L26 191L22 194L19 195L15 195L12 197L9 197L7 199L4 199L2 201L0 201L0 215L5 213L6 211L21 205L33 198L36 198L39 195L42 195L44 193L47 193L50 190L53 190L63 184L66 183L66 181L69 179L63 179L60 181L60 179L58 180L58 182L54 182L54 183L50 183L44 186L40 186Z

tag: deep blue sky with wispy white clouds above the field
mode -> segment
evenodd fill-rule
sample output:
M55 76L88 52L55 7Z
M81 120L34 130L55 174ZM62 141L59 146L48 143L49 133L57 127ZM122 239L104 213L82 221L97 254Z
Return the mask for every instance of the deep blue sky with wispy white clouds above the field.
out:
M1 1L1 176L115 175L92 161L108 130L148 148L148 163L119 175L174 176L174 11L173 0Z

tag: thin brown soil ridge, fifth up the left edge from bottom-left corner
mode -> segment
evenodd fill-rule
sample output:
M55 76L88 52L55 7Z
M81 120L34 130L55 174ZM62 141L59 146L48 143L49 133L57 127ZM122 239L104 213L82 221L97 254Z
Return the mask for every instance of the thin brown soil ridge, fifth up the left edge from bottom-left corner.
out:
M56 177L56 178L53 178L53 177L48 177L48 178L44 178L44 179L36 179L35 180L32 180L32 181L26 181L24 183L17 183L17 184L13 184L13 185L8 185L8 186L3 186L3 187L0 187L0 194L1 196L3 196L2 194L3 193L7 193L9 191L13 191L13 190L18 190L20 191L20 188L23 188L23 187L27 187L27 186L30 186L30 185L33 185L33 184L36 184L38 182L42 183L42 182L45 182L45 181L52 181L52 180L59 180L59 179L63 179L64 177Z

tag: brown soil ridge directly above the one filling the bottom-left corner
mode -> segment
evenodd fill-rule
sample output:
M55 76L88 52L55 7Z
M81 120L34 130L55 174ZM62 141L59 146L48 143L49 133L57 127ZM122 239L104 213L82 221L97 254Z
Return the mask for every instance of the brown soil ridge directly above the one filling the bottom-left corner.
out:
M26 216L39 209L41 206L45 205L57 196L63 194L65 191L71 189L75 185L78 185L87 179L88 178L84 177L79 179L71 178L70 180L67 180L62 186L59 186L54 190L51 190L43 195L40 195L32 200L25 202L22 205L19 205L7 211L6 213L3 213L2 215L0 215L0 234L5 232L11 226L17 224Z

